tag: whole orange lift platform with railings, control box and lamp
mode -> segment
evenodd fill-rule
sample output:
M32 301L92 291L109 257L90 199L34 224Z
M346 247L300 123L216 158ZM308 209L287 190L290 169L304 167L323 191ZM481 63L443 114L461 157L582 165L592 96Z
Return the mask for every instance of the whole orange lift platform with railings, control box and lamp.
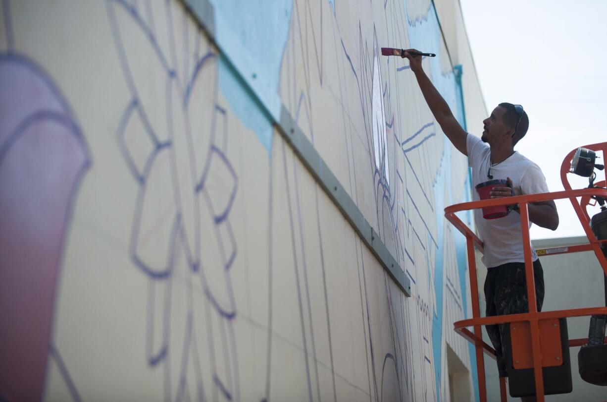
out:
M483 353L495 359L495 350L483 341L481 333L482 325L507 324L504 327L506 329L504 331L504 338L508 338L508 335L510 335L510 339L505 341L510 350L506 352L504 359L508 366L510 395L513 397L535 395L537 401L543 402L544 395L571 392L571 365L569 363L571 358L569 357L569 347L575 346L584 346L580 349L580 354L578 355L580 375L582 375L583 380L593 384L607 385L607 359L605 359L607 357L607 338L604 337L605 321L602 324L602 333L599 331L600 340L599 342L595 342L600 344L597 344L595 349L592 349L594 346L585 346L589 344L589 338L568 339L566 329L566 318L580 316L592 316L592 319L605 318L607 316L607 307L538 312L535 301L535 287L527 286L529 313L481 317L476 278L475 248L483 253L483 243L474 231L456 216L456 213L460 211L518 204L521 215L521 239L523 239L524 247L526 282L527 284L533 284L534 268L531 261L532 251L529 238L529 211L527 210L527 205L547 200L571 200L571 205L588 237L588 244L552 249L550 250L551 253L546 255L594 251L603 268L603 273L606 275L605 285L607 292L607 259L604 254L607 253L607 230L603 229L601 232L597 230L597 227L600 225L596 225L597 220L599 220L596 218L602 215L601 217L605 219L600 223L605 223L603 226L607 228L607 208L604 206L605 200L607 200L607 189L605 188L605 180L594 183L596 177L594 168L603 168L602 165L595 166L595 152L597 151L602 151L603 156L607 157L607 142L587 145L569 152L561 165L561 182L565 191L465 202L445 208L445 217L466 237L473 318L456 321L454 327L459 335L472 342L475 346L481 402L487 401ZM572 189L568 180L568 173L570 172L589 177L589 187ZM591 203L593 202L592 200L594 200L594 204ZM591 219L586 209L588 205L596 205L597 201L602 207L602 213L596 214ZM470 327L473 328L473 331L469 329ZM583 351L585 350L592 351L591 353L584 354ZM515 372L522 374L522 376L512 375ZM522 384L523 390L521 390L520 384L517 385L515 382L526 383ZM569 389L559 389L563 383L565 383L566 387L567 382ZM515 389L514 393L513 386ZM550 387L553 389L549 389ZM500 394L501 401L506 402L505 378L500 378Z

